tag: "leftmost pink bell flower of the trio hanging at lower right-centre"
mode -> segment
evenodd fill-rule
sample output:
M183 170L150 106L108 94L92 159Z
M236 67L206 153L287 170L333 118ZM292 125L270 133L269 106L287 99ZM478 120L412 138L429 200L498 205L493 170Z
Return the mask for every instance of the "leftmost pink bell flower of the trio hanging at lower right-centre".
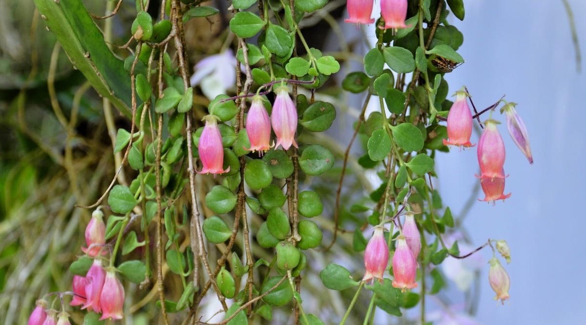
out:
M366 245L364 251L364 269L366 273L362 278L363 281L374 282L378 279L383 283L384 270L389 264L389 247L387 241L384 240L384 228L382 226L374 227L374 233Z

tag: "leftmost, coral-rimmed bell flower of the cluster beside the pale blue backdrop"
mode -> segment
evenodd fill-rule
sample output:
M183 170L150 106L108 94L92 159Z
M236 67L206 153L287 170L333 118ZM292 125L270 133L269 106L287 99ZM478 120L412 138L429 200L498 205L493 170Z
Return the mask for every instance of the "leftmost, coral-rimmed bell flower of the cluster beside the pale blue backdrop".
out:
M449 109L448 140L444 139L444 146L452 145L460 148L476 146L470 142L471 134L472 113L468 106L468 93L459 90L456 91L456 101Z

